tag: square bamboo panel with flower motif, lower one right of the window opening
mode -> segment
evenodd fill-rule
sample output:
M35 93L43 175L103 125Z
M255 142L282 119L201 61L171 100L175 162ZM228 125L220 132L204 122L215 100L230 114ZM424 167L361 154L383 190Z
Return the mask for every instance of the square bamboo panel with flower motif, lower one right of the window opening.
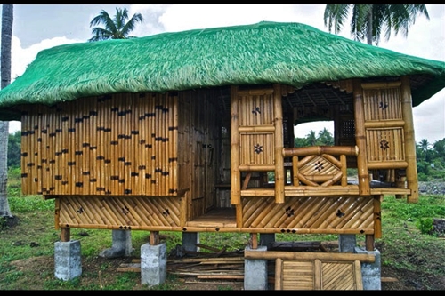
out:
M405 160L402 128L367 129L368 162L386 162Z

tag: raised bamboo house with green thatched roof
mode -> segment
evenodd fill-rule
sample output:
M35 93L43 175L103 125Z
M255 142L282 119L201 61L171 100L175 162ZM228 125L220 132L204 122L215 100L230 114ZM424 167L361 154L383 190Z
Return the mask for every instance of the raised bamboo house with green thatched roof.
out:
M22 192L55 199L66 239L350 234L372 250L384 196L418 200L412 111L444 86L444 62L263 21L44 50L0 119L21 122ZM335 145L295 148L294 126L320 120Z

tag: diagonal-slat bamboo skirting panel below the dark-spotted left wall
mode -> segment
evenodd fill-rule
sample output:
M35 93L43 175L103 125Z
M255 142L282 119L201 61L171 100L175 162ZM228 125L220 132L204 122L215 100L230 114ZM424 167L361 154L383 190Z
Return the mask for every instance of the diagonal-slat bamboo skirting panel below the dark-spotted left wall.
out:
M180 226L179 197L63 196L59 225L73 228L138 229Z

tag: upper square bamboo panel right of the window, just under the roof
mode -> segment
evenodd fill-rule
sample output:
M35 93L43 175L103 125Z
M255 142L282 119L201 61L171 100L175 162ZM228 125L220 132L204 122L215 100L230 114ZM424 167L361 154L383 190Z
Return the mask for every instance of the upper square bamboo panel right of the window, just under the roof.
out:
M401 88L364 89L365 121L402 119Z

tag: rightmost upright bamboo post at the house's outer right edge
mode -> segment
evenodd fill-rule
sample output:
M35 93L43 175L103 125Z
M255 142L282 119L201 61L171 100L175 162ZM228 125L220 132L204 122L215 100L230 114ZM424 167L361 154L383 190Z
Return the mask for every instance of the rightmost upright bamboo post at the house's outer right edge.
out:
M416 161L416 140L414 137L413 109L411 90L409 86L409 76L401 77L401 112L405 125L403 127L405 137L405 159L407 167L407 187L411 190L408 196L408 203L418 202L418 180Z

